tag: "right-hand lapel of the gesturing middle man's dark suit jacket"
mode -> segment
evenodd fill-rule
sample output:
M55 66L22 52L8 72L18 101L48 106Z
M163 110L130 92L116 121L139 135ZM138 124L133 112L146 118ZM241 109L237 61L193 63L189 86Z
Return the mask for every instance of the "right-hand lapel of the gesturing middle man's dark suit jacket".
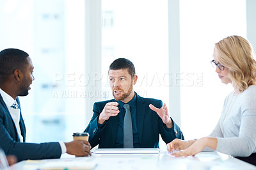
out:
M143 98L137 95L137 126L138 126L138 134L141 144L143 125L144 125L144 116L145 116L145 103Z

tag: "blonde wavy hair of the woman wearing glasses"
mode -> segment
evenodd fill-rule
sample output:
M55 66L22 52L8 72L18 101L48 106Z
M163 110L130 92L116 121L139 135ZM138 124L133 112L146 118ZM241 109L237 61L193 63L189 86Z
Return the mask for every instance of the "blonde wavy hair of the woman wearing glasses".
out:
M215 44L216 58L228 68L232 86L243 92L256 81L256 61L253 48L241 36L228 36Z

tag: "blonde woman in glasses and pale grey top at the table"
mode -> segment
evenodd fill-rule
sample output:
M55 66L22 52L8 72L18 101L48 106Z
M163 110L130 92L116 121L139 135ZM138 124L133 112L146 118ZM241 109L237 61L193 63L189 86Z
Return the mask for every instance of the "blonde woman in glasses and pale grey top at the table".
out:
M234 88L225 98L218 124L211 135L190 141L175 139L166 145L167 150L175 157L188 157L210 148L255 164L256 61L252 45L241 36L228 36L215 44L211 63L221 82Z

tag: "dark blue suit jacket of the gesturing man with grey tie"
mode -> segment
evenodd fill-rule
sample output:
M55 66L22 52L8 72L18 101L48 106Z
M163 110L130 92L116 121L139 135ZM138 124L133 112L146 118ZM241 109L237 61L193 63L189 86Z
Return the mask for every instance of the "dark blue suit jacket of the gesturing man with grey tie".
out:
M97 146L97 144L99 144L99 148L114 148L118 128L118 116L110 117L109 120L105 121L106 124L102 128L99 128L97 123L99 114L108 102L116 102L116 100L96 102L93 105L92 120L86 130L84 130L84 132L90 134L89 142L92 148ZM179 126L174 121L173 127L166 130L166 125L158 114L148 107L149 104L153 104L157 108L163 105L161 100L142 98L137 95L137 125L141 148L159 148L159 134L161 134L165 143L170 143L175 138L184 139Z

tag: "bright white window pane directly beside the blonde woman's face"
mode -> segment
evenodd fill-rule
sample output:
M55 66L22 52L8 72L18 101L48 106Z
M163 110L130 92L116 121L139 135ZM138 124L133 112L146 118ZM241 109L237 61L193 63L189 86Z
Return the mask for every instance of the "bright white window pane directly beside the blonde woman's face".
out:
M222 84L211 66L214 43L246 38L246 6L241 0L180 1L181 127L185 139L211 134L232 86Z

